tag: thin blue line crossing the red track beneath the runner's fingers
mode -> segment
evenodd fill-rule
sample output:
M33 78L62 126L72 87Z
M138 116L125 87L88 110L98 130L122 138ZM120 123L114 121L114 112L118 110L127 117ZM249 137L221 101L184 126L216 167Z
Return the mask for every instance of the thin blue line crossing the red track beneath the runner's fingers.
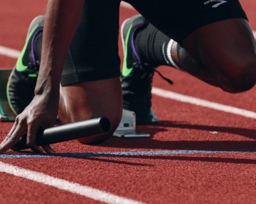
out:
M116 157L116 156L154 156L154 155L192 155L215 154L231 152L256 152L256 149L229 149L229 150L163 150L163 151L122 151L98 153L58 153L55 155L12 154L0 155L0 159L10 158L44 158L44 157Z

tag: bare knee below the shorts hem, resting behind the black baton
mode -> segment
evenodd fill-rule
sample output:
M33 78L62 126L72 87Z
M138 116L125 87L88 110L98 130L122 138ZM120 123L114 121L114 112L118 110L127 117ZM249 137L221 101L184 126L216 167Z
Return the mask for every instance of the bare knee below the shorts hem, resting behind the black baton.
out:
M60 87L58 117L63 123L97 117L108 117L111 131L108 135L84 138L81 142L102 142L111 137L122 117L120 78L76 83Z

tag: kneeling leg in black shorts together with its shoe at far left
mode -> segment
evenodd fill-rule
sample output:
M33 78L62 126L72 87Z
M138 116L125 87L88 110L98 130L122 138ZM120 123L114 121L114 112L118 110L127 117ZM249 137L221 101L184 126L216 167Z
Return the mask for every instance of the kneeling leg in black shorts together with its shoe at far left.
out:
M79 27L63 67L59 101L61 121L68 123L100 116L106 116L111 120L112 130L108 135L80 140L83 143L99 143L110 138L121 120L119 4L119 0L112 4L100 0L97 3L86 1ZM15 69L10 77L10 103L13 107L15 105L14 109L17 113L22 112L34 96L43 25L44 16L32 22L28 43L18 60L17 70ZM39 30L40 35L37 33ZM30 92L19 94L17 88ZM28 96L31 99L27 99ZM24 99L26 99L25 103L20 104Z

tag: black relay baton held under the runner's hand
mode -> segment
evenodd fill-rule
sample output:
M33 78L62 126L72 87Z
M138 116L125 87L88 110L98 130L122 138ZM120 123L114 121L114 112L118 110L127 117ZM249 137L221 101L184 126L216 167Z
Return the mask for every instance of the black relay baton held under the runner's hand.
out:
M111 129L111 122L107 117L99 117L89 120L72 122L54 126L38 131L36 135L37 146L65 142L69 140L106 134ZM11 148L14 151L28 149L27 135L20 137L19 141Z

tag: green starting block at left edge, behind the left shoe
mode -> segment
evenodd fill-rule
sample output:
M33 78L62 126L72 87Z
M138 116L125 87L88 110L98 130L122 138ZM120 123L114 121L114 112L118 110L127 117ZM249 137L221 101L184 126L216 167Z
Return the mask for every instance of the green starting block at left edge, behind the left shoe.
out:
M0 122L14 121L16 115L9 106L7 99L7 82L12 69L0 69Z

